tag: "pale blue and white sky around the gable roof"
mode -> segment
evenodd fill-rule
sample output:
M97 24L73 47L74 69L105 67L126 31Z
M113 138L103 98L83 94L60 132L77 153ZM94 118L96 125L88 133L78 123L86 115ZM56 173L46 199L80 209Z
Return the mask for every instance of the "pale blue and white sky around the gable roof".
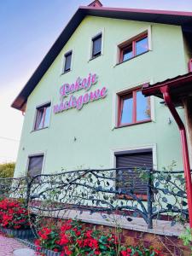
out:
M87 0L1 0L0 163L15 161L24 117L11 103L79 5ZM191 0L102 0L104 6L192 11Z

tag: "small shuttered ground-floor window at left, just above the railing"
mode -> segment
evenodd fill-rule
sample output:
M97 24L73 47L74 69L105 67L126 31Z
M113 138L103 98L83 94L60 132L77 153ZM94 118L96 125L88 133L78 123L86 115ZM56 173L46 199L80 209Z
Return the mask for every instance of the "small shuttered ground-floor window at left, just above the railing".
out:
M44 162L44 154L30 156L28 162L28 175L34 177L41 174Z

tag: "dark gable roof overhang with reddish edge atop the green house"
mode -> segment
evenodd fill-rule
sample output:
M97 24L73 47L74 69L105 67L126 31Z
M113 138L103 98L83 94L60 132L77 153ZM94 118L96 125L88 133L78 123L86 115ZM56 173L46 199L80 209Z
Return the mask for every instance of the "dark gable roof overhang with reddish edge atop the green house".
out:
M192 12L80 6L61 32L59 38L56 39L55 44L49 49L43 61L41 61L38 68L32 74L32 77L20 91L19 96L16 97L12 104L13 108L20 110L23 108L26 104L27 97L32 93L32 90L34 90L40 79L44 76L44 73L46 73L53 61L55 61L56 56L59 55L61 49L67 44L67 41L71 38L73 32L86 15L192 27Z

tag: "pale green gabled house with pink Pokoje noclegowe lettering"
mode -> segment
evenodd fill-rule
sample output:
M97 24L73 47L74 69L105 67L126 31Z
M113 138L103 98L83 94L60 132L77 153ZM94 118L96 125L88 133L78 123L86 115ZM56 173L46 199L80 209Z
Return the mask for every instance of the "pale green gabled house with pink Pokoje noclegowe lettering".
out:
M183 170L172 114L141 90L188 73L191 25L188 12L79 7L12 104L25 112L15 176L172 160Z

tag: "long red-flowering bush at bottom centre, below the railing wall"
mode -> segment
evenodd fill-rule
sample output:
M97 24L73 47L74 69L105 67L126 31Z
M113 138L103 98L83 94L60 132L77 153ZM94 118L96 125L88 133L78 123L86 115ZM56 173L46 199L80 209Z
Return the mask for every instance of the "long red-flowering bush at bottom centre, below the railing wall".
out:
M77 221L67 220L61 223L60 227L52 225L44 227L38 231L39 238L35 244L55 252L60 252L61 256L66 255L102 255L102 256L131 256L163 255L152 248L123 247L119 239L113 234L105 234L101 230L84 228Z

